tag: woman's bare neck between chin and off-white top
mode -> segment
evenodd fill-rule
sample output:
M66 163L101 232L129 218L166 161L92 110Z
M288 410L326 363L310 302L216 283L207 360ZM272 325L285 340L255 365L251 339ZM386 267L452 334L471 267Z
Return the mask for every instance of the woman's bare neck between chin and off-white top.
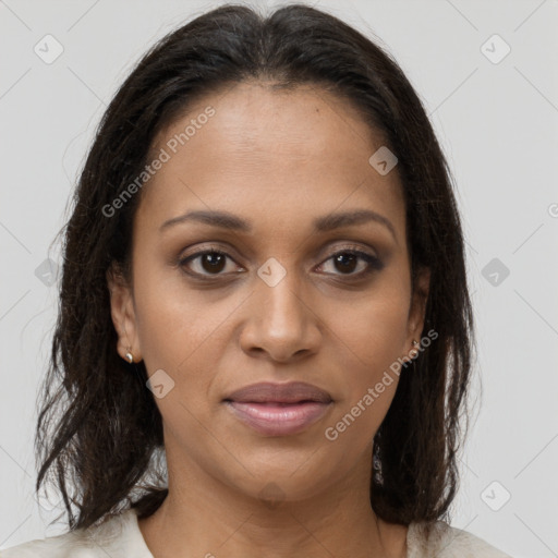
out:
M290 500L271 483L253 497L194 466L169 466L169 495L140 530L155 558L404 558L407 527L374 513L369 471L362 462L344 480Z

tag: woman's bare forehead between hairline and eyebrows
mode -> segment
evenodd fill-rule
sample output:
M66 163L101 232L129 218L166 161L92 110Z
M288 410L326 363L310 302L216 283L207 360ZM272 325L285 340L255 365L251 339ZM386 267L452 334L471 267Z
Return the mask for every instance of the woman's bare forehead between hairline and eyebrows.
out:
M380 175L368 162L381 145L349 101L317 86L242 83L203 97L158 134L151 154L166 162L144 186L138 219L199 208L284 223L286 213L367 206L401 220L397 172Z

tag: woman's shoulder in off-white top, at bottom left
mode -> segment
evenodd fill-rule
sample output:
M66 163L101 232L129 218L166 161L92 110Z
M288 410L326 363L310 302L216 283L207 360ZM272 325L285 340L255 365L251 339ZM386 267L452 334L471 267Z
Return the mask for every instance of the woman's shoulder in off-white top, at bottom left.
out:
M112 558L129 556L135 550L135 512L126 510L110 515L88 529L77 529L47 538L29 541L0 550L0 558ZM137 554L143 558L143 554Z

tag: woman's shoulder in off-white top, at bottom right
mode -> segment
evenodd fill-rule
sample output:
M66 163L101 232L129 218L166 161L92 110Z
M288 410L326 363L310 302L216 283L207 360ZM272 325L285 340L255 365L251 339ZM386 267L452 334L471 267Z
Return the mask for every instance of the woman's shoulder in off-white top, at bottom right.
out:
M408 558L511 558L486 541L445 521L432 523L429 534L427 526L427 523L409 525Z

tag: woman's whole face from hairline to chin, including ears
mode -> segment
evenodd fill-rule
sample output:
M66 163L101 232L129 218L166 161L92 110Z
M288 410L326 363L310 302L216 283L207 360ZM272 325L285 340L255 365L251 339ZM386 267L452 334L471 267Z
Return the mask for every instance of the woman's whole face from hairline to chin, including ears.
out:
M381 145L325 90L248 83L157 137L165 162L135 216L133 287L109 287L119 352L158 386L170 474L251 496L272 482L293 500L359 466L369 477L390 366L420 338L428 282L413 295L397 167L368 162ZM314 391L280 391L293 381ZM229 401L259 383L279 391Z

